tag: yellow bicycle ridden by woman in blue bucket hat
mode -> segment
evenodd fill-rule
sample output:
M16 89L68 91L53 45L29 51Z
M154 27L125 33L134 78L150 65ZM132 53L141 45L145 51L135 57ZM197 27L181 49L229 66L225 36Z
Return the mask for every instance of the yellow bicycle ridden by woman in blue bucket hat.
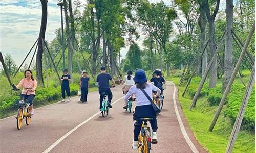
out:
M151 150L151 131L150 127L147 125L148 121L153 118L140 118L143 122L141 126L141 132L138 141L138 152L139 153L150 153Z

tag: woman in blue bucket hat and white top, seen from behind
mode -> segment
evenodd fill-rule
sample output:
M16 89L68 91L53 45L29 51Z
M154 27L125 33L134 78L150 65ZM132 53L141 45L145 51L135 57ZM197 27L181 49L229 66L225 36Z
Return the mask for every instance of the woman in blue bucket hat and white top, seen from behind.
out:
M134 123L134 141L132 144L133 149L137 149L138 146L138 137L141 130L142 121L139 120L143 117L153 118L150 121L152 127L152 143L157 143L157 121L156 121L156 113L152 107L151 101L147 99L145 94L141 91L144 89L145 92L152 98L152 91L156 91L157 94L155 97L158 97L161 93L161 90L158 89L151 83L147 82L145 71L142 69L136 70L134 77L135 85L133 85L127 94L124 97L124 100L130 98L131 95L135 95L137 106L135 108L133 119L136 120Z

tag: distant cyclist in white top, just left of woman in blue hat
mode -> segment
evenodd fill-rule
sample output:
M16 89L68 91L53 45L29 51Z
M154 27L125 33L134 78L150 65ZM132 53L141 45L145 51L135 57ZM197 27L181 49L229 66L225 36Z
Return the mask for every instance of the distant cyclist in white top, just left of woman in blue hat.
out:
M134 80L133 80L133 71L132 70L127 70L127 75L124 76L124 80L122 84L124 84L123 87L123 94L126 95L126 93L129 91L129 89L134 85ZM127 101L124 100L124 106L123 109L127 108Z

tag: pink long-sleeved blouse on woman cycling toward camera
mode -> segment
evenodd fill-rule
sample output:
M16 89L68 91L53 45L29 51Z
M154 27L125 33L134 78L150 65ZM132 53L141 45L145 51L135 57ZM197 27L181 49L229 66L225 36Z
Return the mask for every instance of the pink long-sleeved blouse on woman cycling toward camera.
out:
M22 79L20 82L19 82L20 85L22 85L22 94L26 94L27 93L27 90L29 89L33 89L36 85L37 85L37 81L36 80L27 80L26 78ZM27 95L32 95L34 94L35 95L35 91L28 91L28 94Z

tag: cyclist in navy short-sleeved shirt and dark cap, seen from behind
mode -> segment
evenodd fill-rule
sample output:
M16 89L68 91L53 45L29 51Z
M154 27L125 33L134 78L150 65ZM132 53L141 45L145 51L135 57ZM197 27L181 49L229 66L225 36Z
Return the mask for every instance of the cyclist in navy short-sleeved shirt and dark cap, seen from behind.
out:
M102 101L103 101L103 95L102 93L105 92L108 95L108 106L112 108L111 100L112 100L112 92L110 90L110 84L109 81L111 80L112 86L115 86L115 81L112 79L111 75L109 73L106 73L105 67L100 67L100 74L97 76L97 85L99 87L99 109L101 109Z

